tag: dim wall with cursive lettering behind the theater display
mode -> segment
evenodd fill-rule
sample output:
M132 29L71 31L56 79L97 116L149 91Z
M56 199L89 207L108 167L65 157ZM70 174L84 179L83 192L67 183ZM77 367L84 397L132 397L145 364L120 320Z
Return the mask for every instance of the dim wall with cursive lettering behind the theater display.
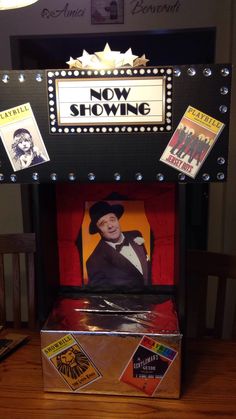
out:
M100 2L105 3L103 0ZM0 68L12 66L11 37L57 34L85 34L128 31L152 31L188 28L216 28L216 62L236 61L236 2L234 0L125 0L124 23L91 24L89 0L39 0L27 8L0 11L1 55ZM46 39L45 39L46 42ZM127 49L129 45L127 45ZM179 46L181 48L181 45ZM194 48L194 45L193 45ZM93 53L94 51L88 51ZM135 53L135 51L133 51ZM52 54L55 53L52 51ZM144 51L145 53L145 51ZM82 54L78 50L78 56ZM158 54L158 46L157 46ZM70 45L68 55L70 57ZM151 63L150 63L151 65ZM65 67L67 65L65 64ZM234 74L233 86L235 86ZM232 96L232 114L236 107L235 87ZM230 166L227 184L210 186L208 247L215 251L236 253L236 122L230 129ZM22 230L20 187L0 185L0 233ZM227 298L231 298L230 284ZM209 322L212 313L209 312ZM230 316L230 313L227 314ZM228 322L226 318L226 322Z

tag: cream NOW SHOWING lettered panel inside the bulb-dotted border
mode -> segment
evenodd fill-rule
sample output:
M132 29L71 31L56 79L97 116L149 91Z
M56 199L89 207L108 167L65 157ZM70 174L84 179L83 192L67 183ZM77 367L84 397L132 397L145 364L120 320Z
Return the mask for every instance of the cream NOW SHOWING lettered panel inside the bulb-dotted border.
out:
M57 82L59 123L156 123L164 119L164 80ZM109 86L109 87L107 87Z

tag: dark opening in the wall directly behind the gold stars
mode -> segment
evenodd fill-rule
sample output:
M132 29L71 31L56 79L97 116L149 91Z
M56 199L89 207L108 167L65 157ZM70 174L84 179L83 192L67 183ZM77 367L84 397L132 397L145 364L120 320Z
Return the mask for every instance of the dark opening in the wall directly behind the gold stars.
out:
M11 37L13 69L65 68L70 56L93 54L109 43L112 50L146 54L148 65L213 63L215 30L121 32Z

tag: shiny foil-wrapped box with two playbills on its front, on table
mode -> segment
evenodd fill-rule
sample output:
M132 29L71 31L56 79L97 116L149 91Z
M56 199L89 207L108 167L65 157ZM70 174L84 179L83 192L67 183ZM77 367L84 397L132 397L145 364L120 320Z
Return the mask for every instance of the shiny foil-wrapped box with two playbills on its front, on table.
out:
M181 334L169 297L60 298L41 346L45 391L179 397Z

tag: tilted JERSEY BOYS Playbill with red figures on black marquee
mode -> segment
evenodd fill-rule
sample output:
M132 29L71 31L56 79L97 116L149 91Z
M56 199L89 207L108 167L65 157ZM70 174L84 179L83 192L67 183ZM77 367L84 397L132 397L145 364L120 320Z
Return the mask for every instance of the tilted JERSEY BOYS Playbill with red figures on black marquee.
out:
M224 124L188 106L160 161L195 178Z

